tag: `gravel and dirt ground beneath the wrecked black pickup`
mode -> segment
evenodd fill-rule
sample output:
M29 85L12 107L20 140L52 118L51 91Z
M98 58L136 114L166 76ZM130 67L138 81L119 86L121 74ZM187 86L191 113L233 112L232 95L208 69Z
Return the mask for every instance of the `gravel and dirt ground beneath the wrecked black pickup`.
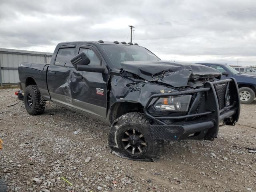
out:
M30 116L14 90L0 90L0 176L9 191L256 191L256 100L214 141L165 144L156 162L120 158L109 125L47 102ZM74 131L79 130L78 134ZM65 182L66 178L73 185Z

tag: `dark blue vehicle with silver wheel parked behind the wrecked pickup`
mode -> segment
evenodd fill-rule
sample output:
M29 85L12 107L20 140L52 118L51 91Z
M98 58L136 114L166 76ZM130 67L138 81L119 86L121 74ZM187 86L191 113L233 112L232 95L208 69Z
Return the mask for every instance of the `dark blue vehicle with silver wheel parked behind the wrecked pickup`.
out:
M200 63L217 69L222 73L221 80L235 78L239 88L240 102L242 104L250 104L256 95L256 76L250 74L242 74L227 64L217 63Z

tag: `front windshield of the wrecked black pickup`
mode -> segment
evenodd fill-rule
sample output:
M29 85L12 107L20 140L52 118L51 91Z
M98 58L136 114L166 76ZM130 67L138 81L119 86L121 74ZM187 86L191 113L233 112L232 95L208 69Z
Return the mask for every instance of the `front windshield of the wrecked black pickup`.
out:
M127 45L101 45L114 66L120 69L124 61L157 61L156 55L140 46Z

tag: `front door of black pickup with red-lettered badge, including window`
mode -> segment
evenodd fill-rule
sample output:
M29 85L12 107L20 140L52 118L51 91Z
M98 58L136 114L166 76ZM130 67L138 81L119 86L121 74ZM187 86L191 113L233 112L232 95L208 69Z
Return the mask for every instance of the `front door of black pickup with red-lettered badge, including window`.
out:
M79 53L81 52L84 52L90 58L89 65L105 65L96 48L81 45ZM71 76L71 92L74 107L83 112L106 118L108 76L109 74L77 71L74 68Z

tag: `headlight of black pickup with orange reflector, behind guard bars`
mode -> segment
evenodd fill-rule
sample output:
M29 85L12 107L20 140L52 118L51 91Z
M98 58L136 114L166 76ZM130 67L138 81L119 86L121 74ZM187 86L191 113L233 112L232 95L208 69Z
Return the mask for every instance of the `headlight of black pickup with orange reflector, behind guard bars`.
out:
M178 95L170 97L161 97L154 104L156 110L164 111L188 111L191 95Z

